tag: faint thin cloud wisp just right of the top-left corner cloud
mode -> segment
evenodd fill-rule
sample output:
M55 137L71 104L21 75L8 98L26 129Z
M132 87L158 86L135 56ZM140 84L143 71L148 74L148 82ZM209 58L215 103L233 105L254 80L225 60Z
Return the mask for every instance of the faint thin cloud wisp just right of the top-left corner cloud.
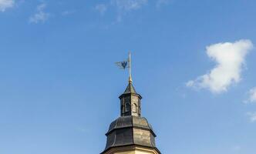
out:
M49 13L45 12L45 8L46 8L45 3L38 5L36 8L35 15L32 15L29 18L29 22L30 23L45 22L49 18Z

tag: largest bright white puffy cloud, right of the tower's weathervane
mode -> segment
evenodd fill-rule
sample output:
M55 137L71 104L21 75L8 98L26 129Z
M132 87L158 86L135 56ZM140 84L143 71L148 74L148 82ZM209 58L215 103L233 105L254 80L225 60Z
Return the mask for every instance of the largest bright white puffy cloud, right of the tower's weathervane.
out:
M226 92L228 87L241 81L245 57L253 48L250 40L224 42L207 46L207 55L217 65L205 75L187 82L188 87L209 89L211 92Z

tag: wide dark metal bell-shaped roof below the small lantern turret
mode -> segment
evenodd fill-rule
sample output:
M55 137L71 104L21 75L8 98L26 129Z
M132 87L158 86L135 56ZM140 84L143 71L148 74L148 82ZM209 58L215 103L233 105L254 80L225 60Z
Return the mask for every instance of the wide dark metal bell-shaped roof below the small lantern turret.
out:
M140 116L121 116L110 124L106 136L105 150L129 145L156 149L156 135L147 119Z

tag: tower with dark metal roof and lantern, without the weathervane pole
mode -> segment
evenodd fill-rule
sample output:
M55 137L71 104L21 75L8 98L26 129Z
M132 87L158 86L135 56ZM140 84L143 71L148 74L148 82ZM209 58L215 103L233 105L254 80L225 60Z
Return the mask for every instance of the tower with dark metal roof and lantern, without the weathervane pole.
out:
M141 95L136 93L131 78L120 95L120 117L106 132L106 148L101 154L160 154L156 134L147 119L141 117Z

